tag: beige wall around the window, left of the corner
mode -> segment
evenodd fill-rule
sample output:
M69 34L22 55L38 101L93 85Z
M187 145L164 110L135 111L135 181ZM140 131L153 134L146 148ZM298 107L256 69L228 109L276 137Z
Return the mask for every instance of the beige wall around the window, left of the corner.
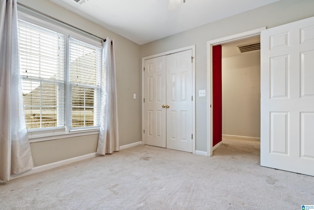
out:
M50 0L18 2L115 43L120 146L142 140L140 46L130 40L64 9ZM137 99L133 99L133 93ZM31 143L35 166L96 152L98 135L79 136Z

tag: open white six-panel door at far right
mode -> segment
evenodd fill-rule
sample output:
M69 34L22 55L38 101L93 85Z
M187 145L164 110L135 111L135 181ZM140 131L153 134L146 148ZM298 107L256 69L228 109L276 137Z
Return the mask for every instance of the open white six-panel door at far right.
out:
M261 165L314 176L314 17L261 33Z

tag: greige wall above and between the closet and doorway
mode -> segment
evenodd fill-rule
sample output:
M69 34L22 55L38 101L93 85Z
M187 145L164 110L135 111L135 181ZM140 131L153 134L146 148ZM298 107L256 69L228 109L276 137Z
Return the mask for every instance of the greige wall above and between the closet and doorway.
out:
M207 41L314 16L314 0L281 0L141 46L140 57L196 45L196 92L207 88ZM207 93L207 97L210 94ZM207 151L207 97L196 96L196 150Z

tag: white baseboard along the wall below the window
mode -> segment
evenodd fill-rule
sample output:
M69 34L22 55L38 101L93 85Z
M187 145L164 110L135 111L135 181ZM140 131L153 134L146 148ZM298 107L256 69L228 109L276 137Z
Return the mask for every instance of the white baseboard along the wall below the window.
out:
M140 141L140 142L135 142L135 143L132 143L132 144L129 144L129 145L124 145L124 146L120 147L120 150L127 149L127 148L134 147L136 145L141 145L141 144L142 144L142 142ZM14 180L14 179L25 177L25 176L28 176L28 175L31 175L31 174L36 174L36 173L39 173L39 172L47 171L49 169L53 169L53 168L56 168L56 167L59 167L59 166L64 166L64 165L67 165L67 164L70 164L70 163L75 163L75 162L78 162L78 161L81 161L81 160L86 160L86 159L89 159L89 158L92 158L92 157L96 157L96 156L98 156L98 154L96 154L96 152L93 152L93 153L90 153L90 154L85 154L85 155L82 155L82 156L73 157L73 158L69 158L69 159L66 159L66 160L60 160L60 161L49 163L49 164L42 165L42 166L37 166L37 167L34 167L34 168L24 172L24 173L21 173L21 174L18 174L18 175L11 175L10 180Z

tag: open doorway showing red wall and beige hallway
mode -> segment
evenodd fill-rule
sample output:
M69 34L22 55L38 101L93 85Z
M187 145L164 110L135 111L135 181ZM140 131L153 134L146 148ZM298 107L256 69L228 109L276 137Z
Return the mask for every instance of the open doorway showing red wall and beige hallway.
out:
M213 145L260 140L260 52L260 36L213 46Z

